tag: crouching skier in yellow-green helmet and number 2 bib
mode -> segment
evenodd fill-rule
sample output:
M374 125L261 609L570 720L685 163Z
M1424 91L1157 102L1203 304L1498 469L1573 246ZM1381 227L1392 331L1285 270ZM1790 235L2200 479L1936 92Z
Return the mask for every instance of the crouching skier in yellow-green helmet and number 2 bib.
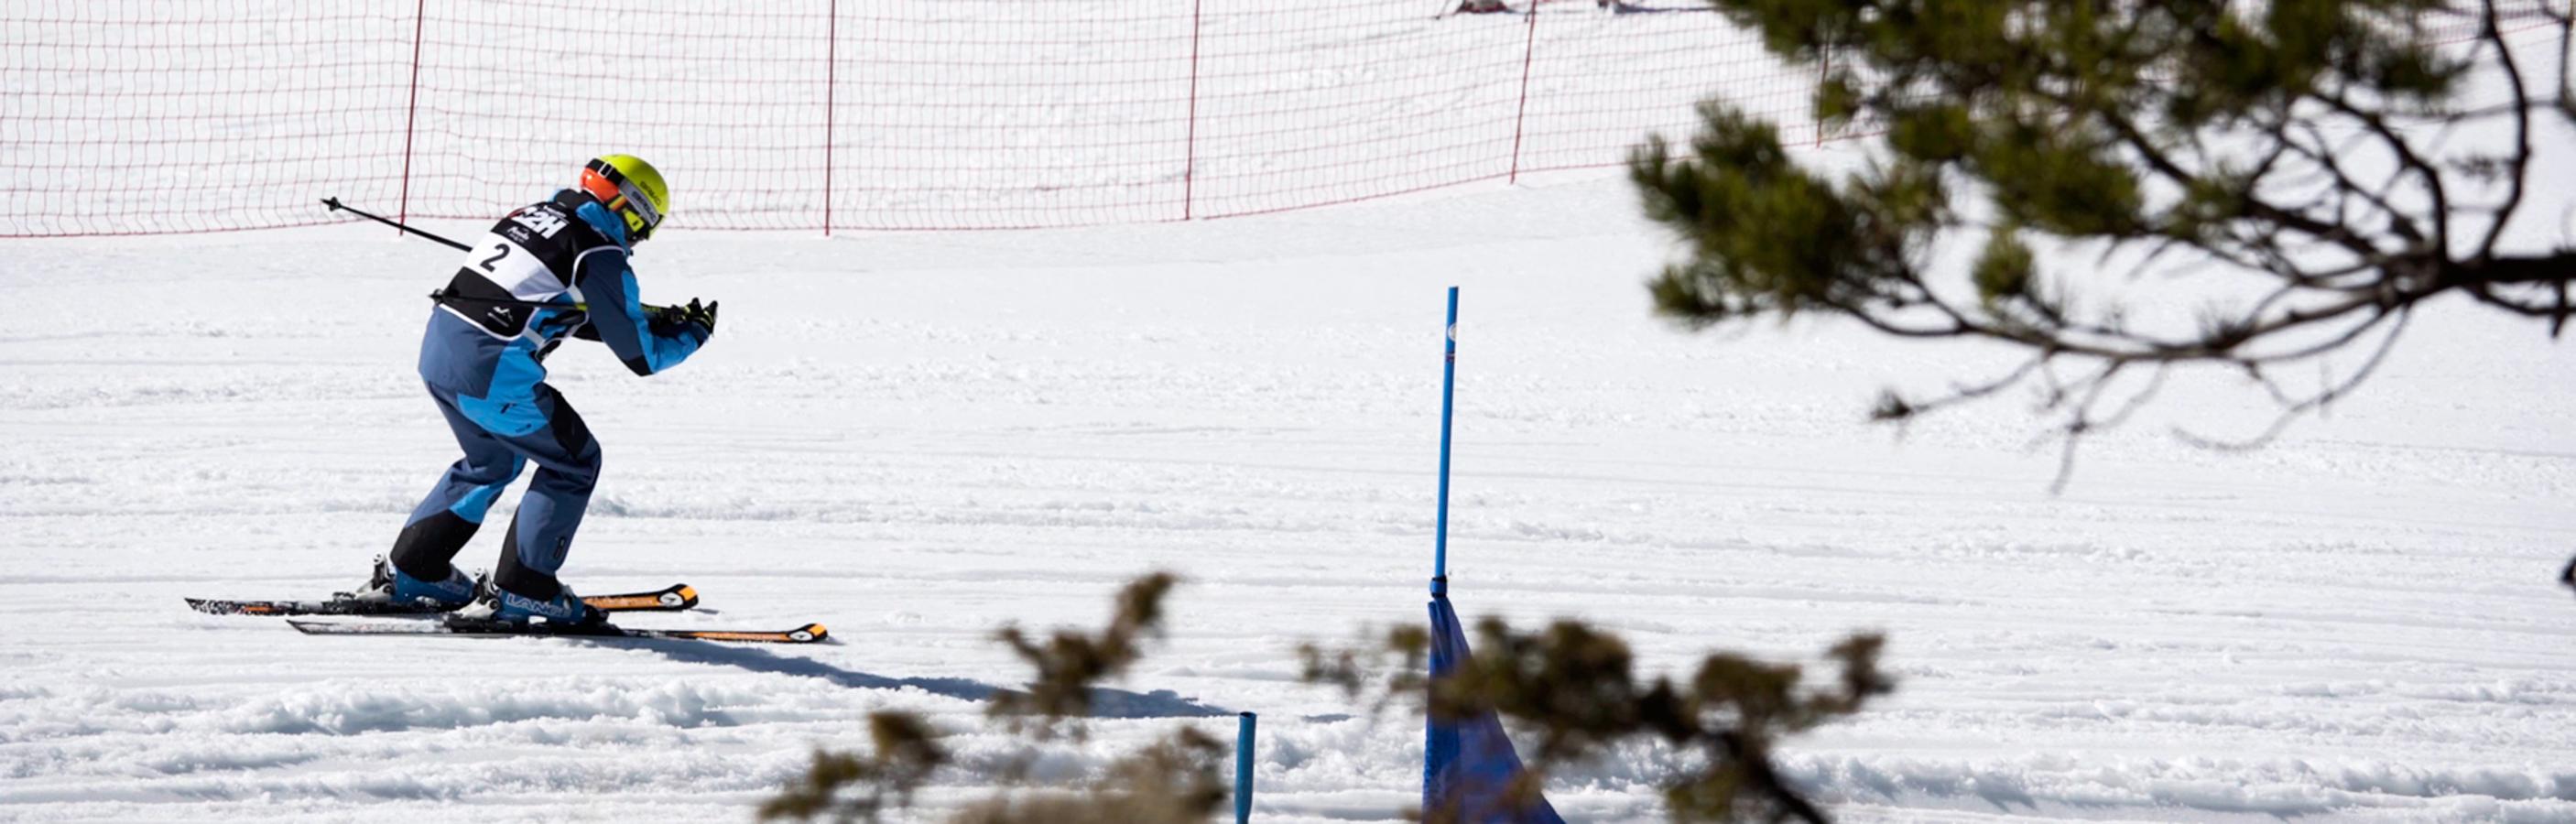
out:
M600 340L649 376L706 345L716 304L636 301L626 260L667 211L670 188L652 165L631 154L590 160L580 185L500 219L433 294L420 379L466 456L430 487L355 597L513 623L600 621L554 577L600 476L600 445L544 384L544 360L564 337ZM526 464L536 464L536 479L502 538L500 566L487 585L469 579L451 561Z

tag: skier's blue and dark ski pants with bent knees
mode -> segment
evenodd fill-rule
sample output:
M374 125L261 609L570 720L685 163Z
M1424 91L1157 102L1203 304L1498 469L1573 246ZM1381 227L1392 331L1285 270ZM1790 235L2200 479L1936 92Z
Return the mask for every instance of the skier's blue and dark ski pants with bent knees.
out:
M459 397L438 386L430 386L430 399L438 402L466 456L448 466L402 525L392 551L394 566L417 579L446 579L456 554L482 528L492 500L526 464L536 464L528 494L502 538L500 564L492 566L492 585L538 600L559 595L562 582L554 572L564 566L572 533L590 507L590 487L600 479L600 443L590 438L582 415L546 384L536 384L533 402L518 404Z

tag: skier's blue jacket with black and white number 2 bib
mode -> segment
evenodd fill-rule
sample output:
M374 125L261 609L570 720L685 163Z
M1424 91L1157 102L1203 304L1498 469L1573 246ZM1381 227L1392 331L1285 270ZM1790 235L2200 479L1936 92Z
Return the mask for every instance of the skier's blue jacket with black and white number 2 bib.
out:
M626 221L582 191L492 224L440 291L420 337L420 379L495 435L546 425L536 386L564 337L595 337L639 376L688 360L706 330L659 322L636 301Z

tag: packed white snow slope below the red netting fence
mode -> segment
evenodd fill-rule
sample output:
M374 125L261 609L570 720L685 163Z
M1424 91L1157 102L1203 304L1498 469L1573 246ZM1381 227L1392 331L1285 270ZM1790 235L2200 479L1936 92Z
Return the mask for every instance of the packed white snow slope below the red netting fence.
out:
M1450 572L1471 621L1577 615L1654 672L1891 633L1901 688L1798 739L1847 819L2576 821L2576 348L2437 304L2277 445L2172 381L2063 494L2027 397L1888 430L1880 386L2002 353L1832 322L1649 317L1664 239L1620 183L1203 224L670 232L649 301L724 301L690 363L551 358L605 443L564 577L693 582L837 646L314 639L183 595L350 587L453 443L412 373L459 255L371 227L0 245L0 819L747 821L811 747L917 711L974 798L1005 623L1095 626L1188 577L1082 775L1262 713L1262 821L1388 821L1419 721L1296 682L1293 644L1422 621L1443 288ZM440 224L440 232L479 232ZM507 520L515 492L492 520ZM489 528L464 561L487 566ZM1672 754L1551 783L1659 816Z

